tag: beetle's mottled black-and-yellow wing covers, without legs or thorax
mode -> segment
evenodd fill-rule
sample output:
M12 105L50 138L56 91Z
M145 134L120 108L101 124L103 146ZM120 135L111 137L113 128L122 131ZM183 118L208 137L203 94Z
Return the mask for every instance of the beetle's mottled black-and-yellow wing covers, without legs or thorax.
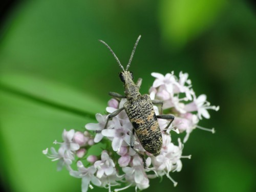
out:
M127 101L124 109L143 148L159 155L163 140L150 96L142 95L137 100Z

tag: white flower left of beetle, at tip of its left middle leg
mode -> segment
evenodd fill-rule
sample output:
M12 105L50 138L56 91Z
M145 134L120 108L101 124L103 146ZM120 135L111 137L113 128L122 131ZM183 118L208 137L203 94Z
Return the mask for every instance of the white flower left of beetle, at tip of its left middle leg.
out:
M105 127L107 116L97 113L95 115L95 117L96 117L98 123L88 123L88 124L86 124L86 129L96 132L94 142L98 143L103 138L103 135L101 134L101 131ZM113 126L114 126L113 122L109 121L108 126L106 127L106 129L111 129Z

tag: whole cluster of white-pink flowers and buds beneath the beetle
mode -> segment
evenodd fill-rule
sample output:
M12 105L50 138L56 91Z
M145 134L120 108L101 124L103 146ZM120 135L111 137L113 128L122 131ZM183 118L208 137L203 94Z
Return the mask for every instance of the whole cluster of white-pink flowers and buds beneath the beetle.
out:
M71 176L81 178L82 192L86 192L88 187L93 188L93 185L108 188L109 192L112 188L119 191L131 186L141 190L150 186L150 179L162 176L169 178L176 186L177 182L170 177L170 173L179 172L181 159L191 157L182 156L183 145L191 131L199 128L214 133L214 129L206 129L198 123L203 117L210 117L207 110L218 111L219 106L211 106L205 95L196 97L187 73L180 72L179 77L173 72L165 76L152 73L152 76L156 79L150 89L150 97L163 101L162 106L154 106L156 115L163 112L175 116L169 127L168 120L158 119L163 139L158 156L146 152L136 135L136 150L130 147L133 126L124 110L106 124L108 115L122 108L126 102L126 99L116 98L108 102L108 115L96 114L98 123L86 124L83 133L64 130L63 142L54 141L60 145L58 151L53 147L51 153L48 148L43 151L53 161L58 161L58 170L65 166ZM182 132L186 132L183 142L180 138L172 141L172 134ZM97 143L105 144L101 147L101 154L90 151L91 146ZM142 157L145 158L144 163ZM75 169L73 162L76 162Z

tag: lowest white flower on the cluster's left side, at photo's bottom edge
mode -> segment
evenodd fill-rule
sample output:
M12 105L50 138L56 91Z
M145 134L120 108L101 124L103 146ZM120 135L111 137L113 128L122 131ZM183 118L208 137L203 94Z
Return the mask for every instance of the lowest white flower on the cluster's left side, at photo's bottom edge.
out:
M101 185L101 181L94 175L96 173L95 167L90 166L86 168L81 161L78 161L77 168L78 171L71 170L70 175L76 178L82 178L82 192L87 192L88 187L93 188L90 184L91 182L96 186Z

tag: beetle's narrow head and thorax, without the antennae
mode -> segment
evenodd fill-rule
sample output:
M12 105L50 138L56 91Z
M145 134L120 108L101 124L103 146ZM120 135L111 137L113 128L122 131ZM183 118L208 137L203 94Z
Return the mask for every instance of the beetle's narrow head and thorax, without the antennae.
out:
M124 94L128 100L136 100L141 96L139 87L133 82L133 74L130 71L122 71L120 78L123 82Z

